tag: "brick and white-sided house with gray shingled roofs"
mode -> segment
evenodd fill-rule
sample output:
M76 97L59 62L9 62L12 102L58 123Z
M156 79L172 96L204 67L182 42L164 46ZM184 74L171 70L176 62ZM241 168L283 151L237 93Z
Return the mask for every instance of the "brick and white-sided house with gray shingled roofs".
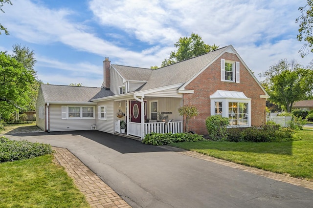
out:
M143 138L150 132L182 132L182 105L199 116L188 130L207 134L205 119L221 115L230 127L265 123L269 97L232 45L159 69L103 61L101 87L44 85L37 100L37 125L45 131L96 129ZM166 121L160 121L160 116Z

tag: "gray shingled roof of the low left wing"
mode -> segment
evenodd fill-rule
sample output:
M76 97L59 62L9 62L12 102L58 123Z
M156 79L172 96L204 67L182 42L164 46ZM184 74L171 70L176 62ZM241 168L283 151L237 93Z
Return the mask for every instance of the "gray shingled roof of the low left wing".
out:
M101 87L42 84L45 102L90 102L91 98L114 95Z

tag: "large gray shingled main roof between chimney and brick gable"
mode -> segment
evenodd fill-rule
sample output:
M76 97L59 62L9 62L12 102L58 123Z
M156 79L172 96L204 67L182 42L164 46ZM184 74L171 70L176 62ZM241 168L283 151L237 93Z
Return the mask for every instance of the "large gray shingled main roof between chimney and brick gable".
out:
M115 65L112 66L126 80L148 81L141 90L154 89L158 87L186 83L193 78L208 63L226 50L227 47L208 52L206 54L178 62L158 69L138 68L131 66Z

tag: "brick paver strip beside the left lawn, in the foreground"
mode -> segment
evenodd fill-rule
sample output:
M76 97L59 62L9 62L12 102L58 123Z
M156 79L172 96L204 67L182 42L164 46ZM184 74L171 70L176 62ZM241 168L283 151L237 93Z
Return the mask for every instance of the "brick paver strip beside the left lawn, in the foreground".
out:
M66 148L53 147L55 159L65 167L76 187L83 192L92 208L131 208L115 191L105 184Z

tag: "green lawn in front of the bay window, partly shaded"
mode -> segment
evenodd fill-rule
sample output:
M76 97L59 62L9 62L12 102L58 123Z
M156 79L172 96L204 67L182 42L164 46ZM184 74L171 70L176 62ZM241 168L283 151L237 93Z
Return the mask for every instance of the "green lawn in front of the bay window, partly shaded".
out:
M183 142L169 145L313 181L313 130L301 130L295 136L300 140L281 143Z

